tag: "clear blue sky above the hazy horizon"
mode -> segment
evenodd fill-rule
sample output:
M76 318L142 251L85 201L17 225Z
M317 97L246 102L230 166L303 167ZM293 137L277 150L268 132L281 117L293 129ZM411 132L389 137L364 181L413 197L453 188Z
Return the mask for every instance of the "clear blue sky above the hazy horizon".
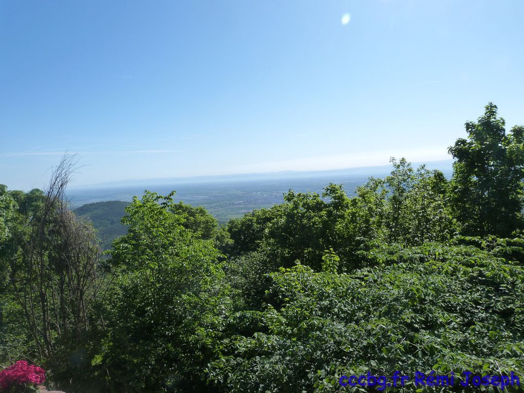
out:
M524 123L523 14L520 0L0 0L0 183L42 187L66 150L73 185L449 158L489 101Z

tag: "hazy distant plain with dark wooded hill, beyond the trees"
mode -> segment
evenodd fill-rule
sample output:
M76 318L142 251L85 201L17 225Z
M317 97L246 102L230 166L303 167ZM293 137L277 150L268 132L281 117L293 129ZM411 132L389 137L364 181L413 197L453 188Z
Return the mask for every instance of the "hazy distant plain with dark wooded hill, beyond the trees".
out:
M345 181L348 195L366 181L366 178ZM173 184L147 187L150 191L167 195L176 190L175 200L195 206L203 206L216 219L224 224L235 217L254 210L269 208L283 202L283 194L290 189L301 192L322 193L329 181L320 179L287 179L273 181L242 181L232 183ZM99 232L103 250L111 248L111 242L126 233L127 228L120 223L125 206L134 195L141 195L144 188L119 187L74 190L68 196L74 211L80 216L89 217ZM78 206L78 207L76 207Z

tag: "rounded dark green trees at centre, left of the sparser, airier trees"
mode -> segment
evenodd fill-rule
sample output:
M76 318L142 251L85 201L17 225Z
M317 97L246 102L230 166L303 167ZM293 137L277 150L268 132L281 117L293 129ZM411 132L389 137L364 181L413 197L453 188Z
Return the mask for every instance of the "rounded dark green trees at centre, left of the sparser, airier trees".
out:
M232 220L226 229L233 245L225 253L234 257L257 250L265 255L270 272L293 266L296 260L321 270L325 250L333 249L347 269L367 234L369 220L361 201L348 198L336 184L322 195L289 191L284 199L281 205Z

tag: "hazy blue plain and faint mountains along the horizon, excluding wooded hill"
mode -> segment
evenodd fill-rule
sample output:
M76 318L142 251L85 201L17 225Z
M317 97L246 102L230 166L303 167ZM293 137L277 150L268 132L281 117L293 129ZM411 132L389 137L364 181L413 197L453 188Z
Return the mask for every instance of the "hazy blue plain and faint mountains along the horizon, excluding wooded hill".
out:
M422 163L412 163L414 167ZM451 160L430 161L427 169L442 170L451 175ZM105 201L130 202L144 190L167 195L176 191L174 200L203 206L220 224L240 217L254 209L268 208L283 202L283 194L316 192L322 194L329 183L343 184L348 195L364 184L369 177L383 177L391 166L347 168L329 171L285 171L271 173L237 174L178 179L124 180L94 184L90 187L69 188L68 198L75 208L87 203Z

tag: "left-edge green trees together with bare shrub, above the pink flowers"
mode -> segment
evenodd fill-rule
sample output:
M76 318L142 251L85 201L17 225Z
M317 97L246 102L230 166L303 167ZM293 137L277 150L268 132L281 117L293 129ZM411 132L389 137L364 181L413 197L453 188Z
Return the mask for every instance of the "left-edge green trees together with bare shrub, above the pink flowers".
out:
M14 210L0 242L0 362L45 364L67 386L71 379L85 383L86 374L77 373L81 359L72 359L90 346L97 323L91 306L102 281L95 233L65 208L67 176L60 173L46 194L7 192Z

